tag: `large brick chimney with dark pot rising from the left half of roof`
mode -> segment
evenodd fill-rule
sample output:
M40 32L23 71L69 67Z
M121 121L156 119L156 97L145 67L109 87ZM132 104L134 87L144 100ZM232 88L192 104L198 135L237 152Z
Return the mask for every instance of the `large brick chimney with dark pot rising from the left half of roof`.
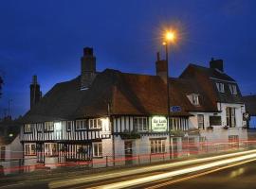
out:
M87 89L96 77L96 58L93 55L93 48L83 48L81 58L81 89Z

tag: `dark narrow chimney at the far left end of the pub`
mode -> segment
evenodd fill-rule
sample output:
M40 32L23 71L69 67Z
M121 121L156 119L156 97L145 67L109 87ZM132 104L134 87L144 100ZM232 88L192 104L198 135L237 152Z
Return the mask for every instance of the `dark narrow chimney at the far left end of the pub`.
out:
M37 82L37 76L32 77L32 83L30 84L30 109L39 102L42 97L40 91L40 85Z

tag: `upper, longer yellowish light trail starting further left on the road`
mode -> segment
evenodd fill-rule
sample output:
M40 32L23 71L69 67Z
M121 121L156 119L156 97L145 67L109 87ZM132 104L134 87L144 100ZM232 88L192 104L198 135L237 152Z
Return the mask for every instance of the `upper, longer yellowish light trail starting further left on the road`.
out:
M99 175L98 176L88 176L86 178L68 179L68 180L53 180L53 181L49 182L48 186L49 186L49 188L61 188L61 187L75 185L75 184L91 182L91 181L107 180L107 179L135 175L135 174L145 173L145 172L150 172L150 171L163 170L163 169L167 169L167 168L177 167L177 166L181 166L181 165L188 165L188 164L192 164L192 163L205 163L205 162L210 162L210 161L215 161L215 160L220 160L220 159L225 159L225 158L231 158L234 156L247 155L247 154L251 154L251 153L256 153L256 150L254 149L254 150L230 153L230 154L226 154L226 155L219 155L219 156L214 156L214 157L209 157L209 158L195 159L195 160L189 160L189 161L183 161L183 162L177 162L177 163L163 163L163 164L153 165L153 166L149 166L149 167L136 168L133 170L123 170L121 172L102 174L100 176ZM256 154L253 154L253 155L256 156Z

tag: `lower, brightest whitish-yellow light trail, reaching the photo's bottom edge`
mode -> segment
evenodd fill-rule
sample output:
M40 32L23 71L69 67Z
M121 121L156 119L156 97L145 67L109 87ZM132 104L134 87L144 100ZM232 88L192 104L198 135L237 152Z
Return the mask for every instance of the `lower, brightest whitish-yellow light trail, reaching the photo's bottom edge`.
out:
M158 175L154 175L154 176L149 176L149 177L145 177L145 178L139 178L136 180L126 180L126 181L121 181L121 182L117 182L117 183L112 183L112 184L106 184L97 188L101 188L101 189L119 189L119 188L126 188L126 187L131 187L131 186L136 186L139 184L145 184L145 183L150 183L152 181L156 181L156 180L165 180L165 179L170 179L172 177L176 177L176 176L181 176L181 175L185 175L185 174L189 174L189 173L193 173L193 172L198 172L198 171L202 171L202 170L206 170L206 169L210 169L216 166L222 166L222 165L226 165L229 163L237 163L237 162L241 162L241 161L246 161L249 159L255 159L256 158L256 154L249 154L249 155L245 155L242 157L236 157L236 158L230 158L228 160L222 160L222 161L218 161L218 162L214 162L214 163L207 163L207 164L203 164L203 165L197 165L197 166L193 166L190 168L184 168L184 169L180 169L180 170L176 170L176 171L171 171L168 173L162 173L162 174L158 174Z

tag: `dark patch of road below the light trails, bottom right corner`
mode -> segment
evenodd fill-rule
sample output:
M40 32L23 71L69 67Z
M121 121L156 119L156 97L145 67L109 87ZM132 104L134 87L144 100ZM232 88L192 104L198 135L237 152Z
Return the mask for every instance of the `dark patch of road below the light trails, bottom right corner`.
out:
M142 186L134 187L142 188ZM256 188L256 161L219 170L196 178L162 180L143 188L172 189L254 189Z

